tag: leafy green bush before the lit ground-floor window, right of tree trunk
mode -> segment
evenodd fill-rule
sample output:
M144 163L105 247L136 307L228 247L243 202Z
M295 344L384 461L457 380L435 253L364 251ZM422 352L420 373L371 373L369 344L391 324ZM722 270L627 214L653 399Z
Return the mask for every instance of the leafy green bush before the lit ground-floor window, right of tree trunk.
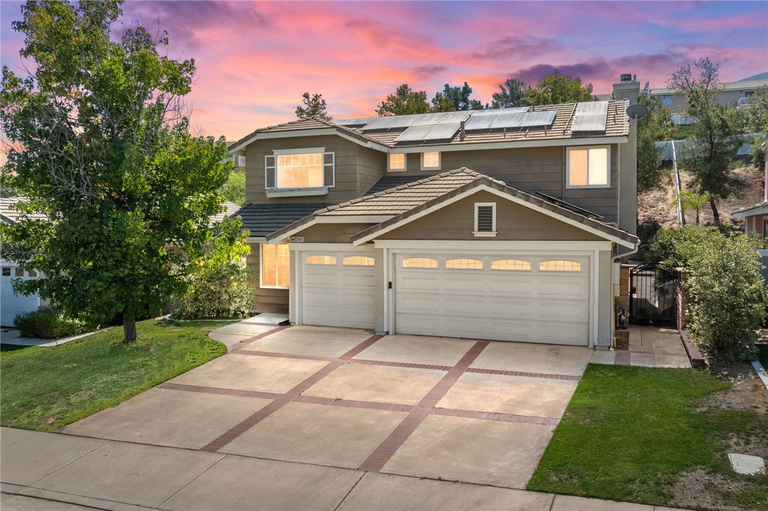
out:
M248 255L247 231L240 219L224 219L198 271L188 278L187 293L174 302L175 318L247 318L256 308L248 269L240 260Z

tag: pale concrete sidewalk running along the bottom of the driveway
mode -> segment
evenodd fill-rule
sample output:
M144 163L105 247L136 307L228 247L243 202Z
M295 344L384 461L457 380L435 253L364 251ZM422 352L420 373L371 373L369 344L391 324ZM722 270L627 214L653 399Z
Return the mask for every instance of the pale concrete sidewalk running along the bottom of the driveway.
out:
M530 509L634 503L2 428L2 509Z

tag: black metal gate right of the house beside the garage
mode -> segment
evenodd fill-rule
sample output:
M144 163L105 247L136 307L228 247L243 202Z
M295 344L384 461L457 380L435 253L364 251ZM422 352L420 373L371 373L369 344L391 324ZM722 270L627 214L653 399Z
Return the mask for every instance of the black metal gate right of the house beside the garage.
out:
M629 321L634 325L677 325L677 270L645 262L630 271Z

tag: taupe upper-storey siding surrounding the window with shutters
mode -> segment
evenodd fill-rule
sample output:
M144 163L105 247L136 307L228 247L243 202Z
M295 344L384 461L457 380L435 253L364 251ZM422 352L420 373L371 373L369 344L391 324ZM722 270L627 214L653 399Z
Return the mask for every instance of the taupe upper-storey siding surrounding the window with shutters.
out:
M326 195L267 198L264 190L264 157L273 150L323 147L335 155L336 186ZM386 155L335 135L257 140L246 149L246 202L342 203L359 197L386 171Z

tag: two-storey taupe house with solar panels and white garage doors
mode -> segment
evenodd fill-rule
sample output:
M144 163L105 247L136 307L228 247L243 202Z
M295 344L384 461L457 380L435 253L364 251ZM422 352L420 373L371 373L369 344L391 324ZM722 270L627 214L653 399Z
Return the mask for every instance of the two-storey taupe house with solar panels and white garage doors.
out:
M297 325L610 347L618 257L638 242L629 104L254 131L230 151L246 157L237 214L260 310Z

